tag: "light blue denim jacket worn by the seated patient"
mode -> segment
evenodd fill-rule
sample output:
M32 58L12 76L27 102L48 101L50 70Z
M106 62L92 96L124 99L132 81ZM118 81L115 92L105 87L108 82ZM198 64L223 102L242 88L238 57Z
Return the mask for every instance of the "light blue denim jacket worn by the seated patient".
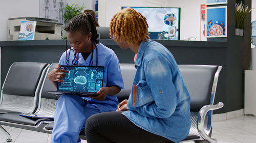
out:
M123 115L148 132L181 141L190 129L190 96L174 56L147 39L140 44L135 68Z

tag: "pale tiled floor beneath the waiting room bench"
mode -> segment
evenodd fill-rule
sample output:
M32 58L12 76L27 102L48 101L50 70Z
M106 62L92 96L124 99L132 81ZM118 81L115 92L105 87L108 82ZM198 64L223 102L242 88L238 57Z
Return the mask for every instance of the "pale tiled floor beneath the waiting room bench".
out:
M50 143L51 135L24 129L3 126L15 143ZM240 116L221 122L212 123L212 137L219 143L255 143L256 142L256 117ZM6 142L6 136L0 132L0 143ZM82 143L87 142L82 140ZM190 143L190 142L189 142Z

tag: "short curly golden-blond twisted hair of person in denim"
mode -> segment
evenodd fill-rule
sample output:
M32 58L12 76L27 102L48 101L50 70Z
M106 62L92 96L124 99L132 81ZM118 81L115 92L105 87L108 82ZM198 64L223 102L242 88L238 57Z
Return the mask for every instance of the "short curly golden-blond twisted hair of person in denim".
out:
M146 18L132 8L122 9L110 22L110 35L127 43L145 42L150 39Z

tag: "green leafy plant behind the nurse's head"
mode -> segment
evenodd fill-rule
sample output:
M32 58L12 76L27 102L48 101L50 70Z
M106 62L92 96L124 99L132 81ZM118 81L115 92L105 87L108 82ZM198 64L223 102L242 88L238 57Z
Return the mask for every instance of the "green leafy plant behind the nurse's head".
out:
M65 10L64 14L62 15L62 17L64 18L64 23L67 24L69 22L69 20L71 18L73 18L76 15L82 14L83 13L83 9L86 8L83 5L81 7L77 6L77 5L69 5L67 3L66 8L63 8L63 10ZM63 36L64 34L62 34L62 29L61 29L61 38L62 39L67 39L66 36Z

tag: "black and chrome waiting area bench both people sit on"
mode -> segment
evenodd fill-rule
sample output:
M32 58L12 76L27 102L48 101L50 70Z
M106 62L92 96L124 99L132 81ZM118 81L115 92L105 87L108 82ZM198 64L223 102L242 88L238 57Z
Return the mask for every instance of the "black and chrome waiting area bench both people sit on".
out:
M46 91L56 90L47 74L58 63L14 63L6 76L0 98L0 130L11 141L10 134L1 125L51 133L53 120L45 118L27 118L20 113L35 113L53 116L58 96ZM190 94L191 127L189 135L183 141L217 142L211 138L212 110L223 107L223 103L214 105L215 93L221 66L178 65ZM134 64L120 64L124 88L117 94L119 102L128 99L131 93ZM10 102L12 101L12 102ZM86 139L84 132L81 139Z

